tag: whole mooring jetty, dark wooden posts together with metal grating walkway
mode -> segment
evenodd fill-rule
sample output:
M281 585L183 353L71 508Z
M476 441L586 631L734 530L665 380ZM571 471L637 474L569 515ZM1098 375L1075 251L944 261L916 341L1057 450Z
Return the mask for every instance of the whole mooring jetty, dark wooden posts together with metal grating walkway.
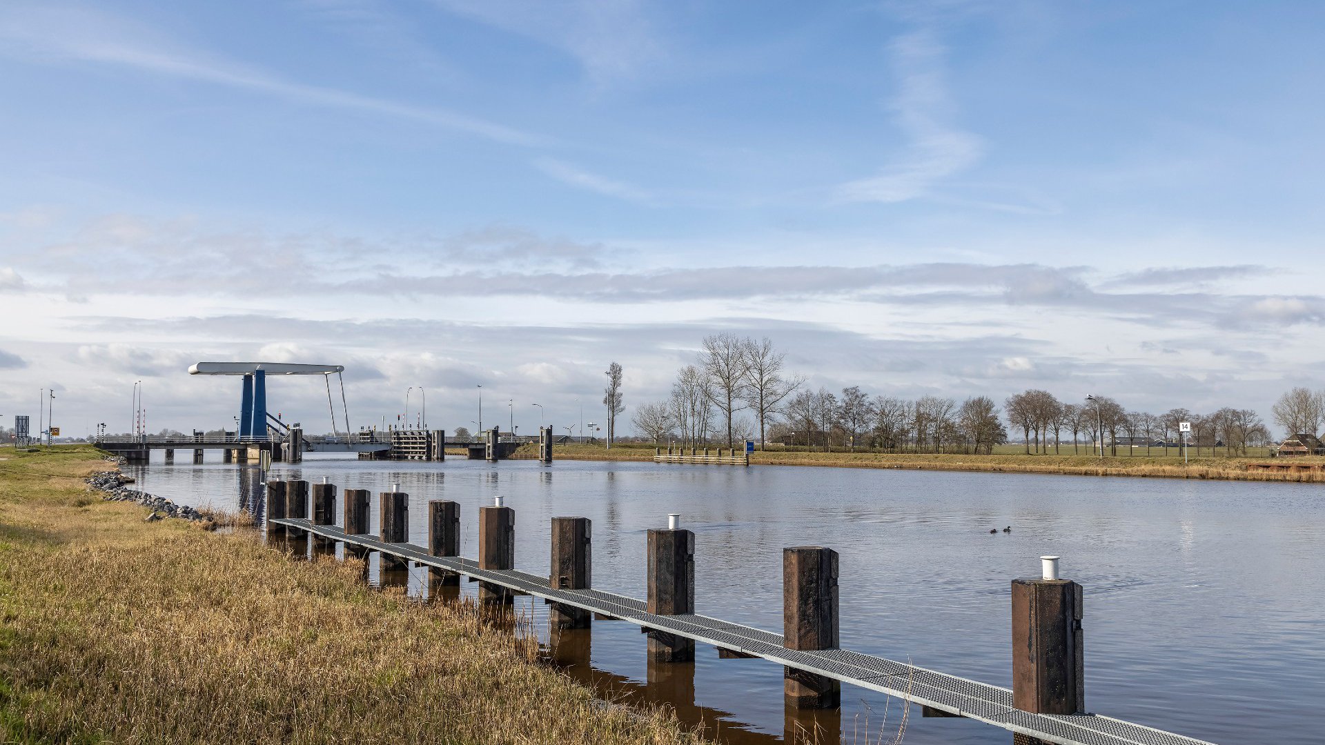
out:
M926 716L978 720L1035 745L1211 745L1171 732L1085 712L1081 655L1083 590L1057 575L1057 557L1041 557L1041 575L1012 581L1012 688L946 675L908 663L853 652L837 640L837 553L823 546L783 549L783 634L694 612L694 533L669 516L648 532L647 599L594 590L590 582L590 521L553 518L550 575L514 567L515 512L496 497L478 510L477 561L458 555L460 505L428 501L428 546L407 541L409 497L392 487L378 497L382 529L368 533L368 490L346 489L343 525L335 525L337 487L307 481L268 483L268 530L303 530L355 551L380 551L429 566L447 577L478 581L478 599L502 606L514 594L551 603L550 622L587 627L594 618L635 623L648 634L649 658L694 659L694 643L723 656L763 658L784 665L784 696L798 708L836 708L840 684L900 697ZM310 504L311 500L311 504ZM309 517L311 516L311 520Z

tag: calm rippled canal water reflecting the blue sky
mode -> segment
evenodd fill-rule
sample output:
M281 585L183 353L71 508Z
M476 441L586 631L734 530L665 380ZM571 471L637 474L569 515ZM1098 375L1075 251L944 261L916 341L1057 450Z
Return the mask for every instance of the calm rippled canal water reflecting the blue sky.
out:
M250 498L257 481L253 468L220 464L152 463L135 473L148 492L225 509ZM1008 583L1037 574L1040 554L1059 554L1063 575L1085 586L1090 711L1226 745L1325 741L1320 485L587 461L309 459L272 472L323 476L372 490L374 505L376 492L399 483L417 544L428 500L460 502L470 557L477 508L502 494L515 509L515 563L530 571L549 565L551 517L588 517L594 585L633 597L644 597L645 530L680 512L696 532L700 612L772 631L782 628L782 547L831 546L841 554L844 648L998 685L1011 685ZM988 533L1006 525L1012 533ZM421 575L395 581L417 591ZM543 627L542 602L518 602ZM718 660L701 646L693 665L651 668L644 648L637 627L595 622L591 634L560 639L556 655L572 675L670 704L723 740L783 738L778 665ZM819 716L828 732L840 726L848 742L853 732L864 741L867 715L873 740L885 707L886 741L901 715L880 695L844 685L840 724ZM908 744L1010 740L918 711L905 734Z

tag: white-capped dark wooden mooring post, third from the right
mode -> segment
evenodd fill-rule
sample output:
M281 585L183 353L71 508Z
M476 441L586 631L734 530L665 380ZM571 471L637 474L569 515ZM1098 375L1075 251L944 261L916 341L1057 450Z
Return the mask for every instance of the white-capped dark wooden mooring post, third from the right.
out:
M672 513L668 528L648 536L648 612L682 615L694 612L694 533L681 529L681 516ZM680 663L694 659L694 639L648 630L649 659Z

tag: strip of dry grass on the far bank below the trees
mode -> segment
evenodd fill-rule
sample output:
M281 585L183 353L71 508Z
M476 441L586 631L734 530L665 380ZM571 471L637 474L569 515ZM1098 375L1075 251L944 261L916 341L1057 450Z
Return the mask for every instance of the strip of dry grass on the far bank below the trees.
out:
M531 447L531 445L530 445ZM523 448L522 448L523 449ZM529 451L534 453L533 449ZM717 452L716 449L712 452ZM567 460L653 460L653 445L623 443L606 449L603 445L558 445L554 457ZM1247 471L1248 463L1265 463L1264 457L1146 457L1142 455L951 455L951 453L876 453L876 452L810 452L806 449L755 451L751 465L822 465L839 468L916 468L934 471L992 471L1006 473L1065 473L1077 476L1149 476L1161 479L1215 479L1234 481L1304 481L1325 483L1325 472L1279 473ZM1275 461L1272 461L1275 463ZM1295 457L1295 465L1325 464L1325 457Z

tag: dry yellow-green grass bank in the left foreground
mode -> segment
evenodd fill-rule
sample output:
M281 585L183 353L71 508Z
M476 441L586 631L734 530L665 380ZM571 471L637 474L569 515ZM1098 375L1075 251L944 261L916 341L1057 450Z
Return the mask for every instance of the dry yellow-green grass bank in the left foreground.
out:
M473 606L105 502L87 447L0 449L0 742L690 742Z

